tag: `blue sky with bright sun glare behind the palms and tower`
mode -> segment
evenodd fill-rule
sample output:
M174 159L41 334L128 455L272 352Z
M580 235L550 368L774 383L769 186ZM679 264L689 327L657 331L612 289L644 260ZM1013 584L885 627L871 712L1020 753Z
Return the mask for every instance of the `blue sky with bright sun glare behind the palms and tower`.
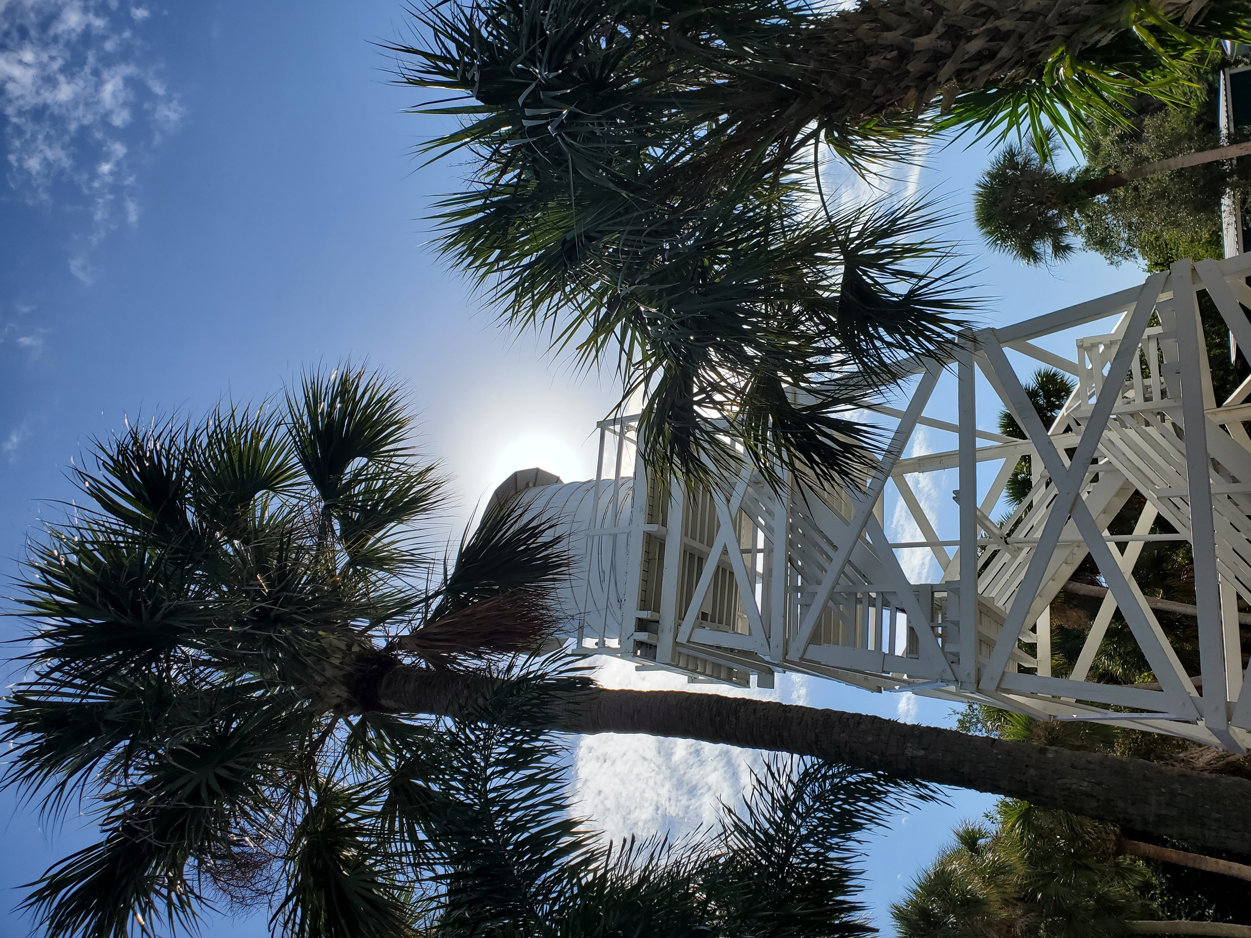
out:
M418 98L389 84L374 45L407 28L397 0L0 0L6 594L25 539L71 497L65 469L93 436L128 416L198 413L224 394L258 399L319 361L368 359L408 384L424 445L457 479L449 530L513 469L594 472L590 431L614 401L610 376L575 374L533 338L503 335L428 246L422 218L460 168L412 156L437 128L402 113ZM963 213L985 160L981 146L931 154L921 185ZM992 324L1141 279L1088 255L1056 273L1026 270L987 255L967 223L953 234L995 298ZM4 628L18 634L13 622ZM816 705L950 722L933 700L824 682L807 694ZM991 803L971 793L953 802L871 845L868 895L886 933L886 904L960 818ZM43 829L11 795L0 812L0 935L20 935L29 922L9 913L15 887L85 834ZM265 929L254 917L205 933Z

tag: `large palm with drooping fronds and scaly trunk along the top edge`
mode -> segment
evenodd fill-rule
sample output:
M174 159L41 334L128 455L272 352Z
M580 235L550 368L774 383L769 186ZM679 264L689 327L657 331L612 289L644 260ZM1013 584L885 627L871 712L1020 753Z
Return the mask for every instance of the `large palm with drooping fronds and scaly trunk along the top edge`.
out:
M403 81L452 96L419 111L464 119L429 145L473 158L437 215L444 251L512 325L617 356L653 469L707 482L728 426L766 473L849 479L872 440L838 411L948 343L970 304L936 245L907 244L931 219L834 210L809 148L867 171L936 106L938 125L1077 131L1136 91L1181 100L1248 11L488 0L418 10L392 49Z

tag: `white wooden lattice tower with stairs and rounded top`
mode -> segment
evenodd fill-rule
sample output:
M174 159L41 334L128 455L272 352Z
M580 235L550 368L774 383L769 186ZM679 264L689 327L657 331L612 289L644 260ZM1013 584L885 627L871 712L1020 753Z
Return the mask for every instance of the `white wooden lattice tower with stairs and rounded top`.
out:
M562 602L569 635L588 654L739 685L754 675L772 687L776 673L797 672L1241 752L1251 745L1240 635L1251 615L1237 608L1237 597L1251 602L1251 379L1213 399L1197 304L1206 293L1237 345L1251 349L1248 275L1251 254L1181 261L1142 286L971 333L955 360L912 361L903 408L874 408L892 435L863 489L788 479L776 492L744 468L722 490L673 485L662 498L637 459L634 418L600 424L593 482L522 473L502 489L522 489L534 512L559 519L575 562ZM1022 389L1040 363L1077 381L1050 428ZM955 420L927 410L945 373L957 379ZM983 414L1010 410L1028 439L977 426L975 395L987 389L995 400ZM919 428L950 434L950 448L904 458ZM996 523L1022 455L1033 488ZM927 512L917 479L945 470L958 475L958 510ZM919 540L887 539L888 485ZM1133 533L1110 535L1135 493L1145 508ZM1150 534L1157 518L1177 533ZM1201 675L1187 674L1133 578L1146 542L1178 539L1193 544L1187 612ZM909 582L898 559L918 548L937 560L934 582ZM1050 605L1087 553L1107 593L1075 669L1057 677ZM1087 679L1117 610L1151 684Z

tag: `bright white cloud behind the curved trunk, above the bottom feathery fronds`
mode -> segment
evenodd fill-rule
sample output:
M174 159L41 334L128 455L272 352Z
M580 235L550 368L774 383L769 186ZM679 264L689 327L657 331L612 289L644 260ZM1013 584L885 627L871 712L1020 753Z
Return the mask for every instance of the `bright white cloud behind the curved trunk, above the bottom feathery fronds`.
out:
M638 673L629 662L597 659L604 687L688 690L686 678L667 672ZM707 684L701 692L736 697L807 700L807 678L778 675L778 689L747 690ZM762 765L757 752L691 739L600 734L582 737L572 779L577 810L594 819L610 840L631 835L694 833L717 823L721 803L736 803Z

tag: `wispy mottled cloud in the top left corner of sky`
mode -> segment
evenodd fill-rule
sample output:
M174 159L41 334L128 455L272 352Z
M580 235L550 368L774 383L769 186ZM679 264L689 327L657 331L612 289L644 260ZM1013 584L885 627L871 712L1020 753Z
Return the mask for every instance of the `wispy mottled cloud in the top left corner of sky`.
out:
M0 0L9 184L30 203L85 208L70 270L86 283L95 246L139 219L141 155L184 116L135 31L150 15L116 0Z

